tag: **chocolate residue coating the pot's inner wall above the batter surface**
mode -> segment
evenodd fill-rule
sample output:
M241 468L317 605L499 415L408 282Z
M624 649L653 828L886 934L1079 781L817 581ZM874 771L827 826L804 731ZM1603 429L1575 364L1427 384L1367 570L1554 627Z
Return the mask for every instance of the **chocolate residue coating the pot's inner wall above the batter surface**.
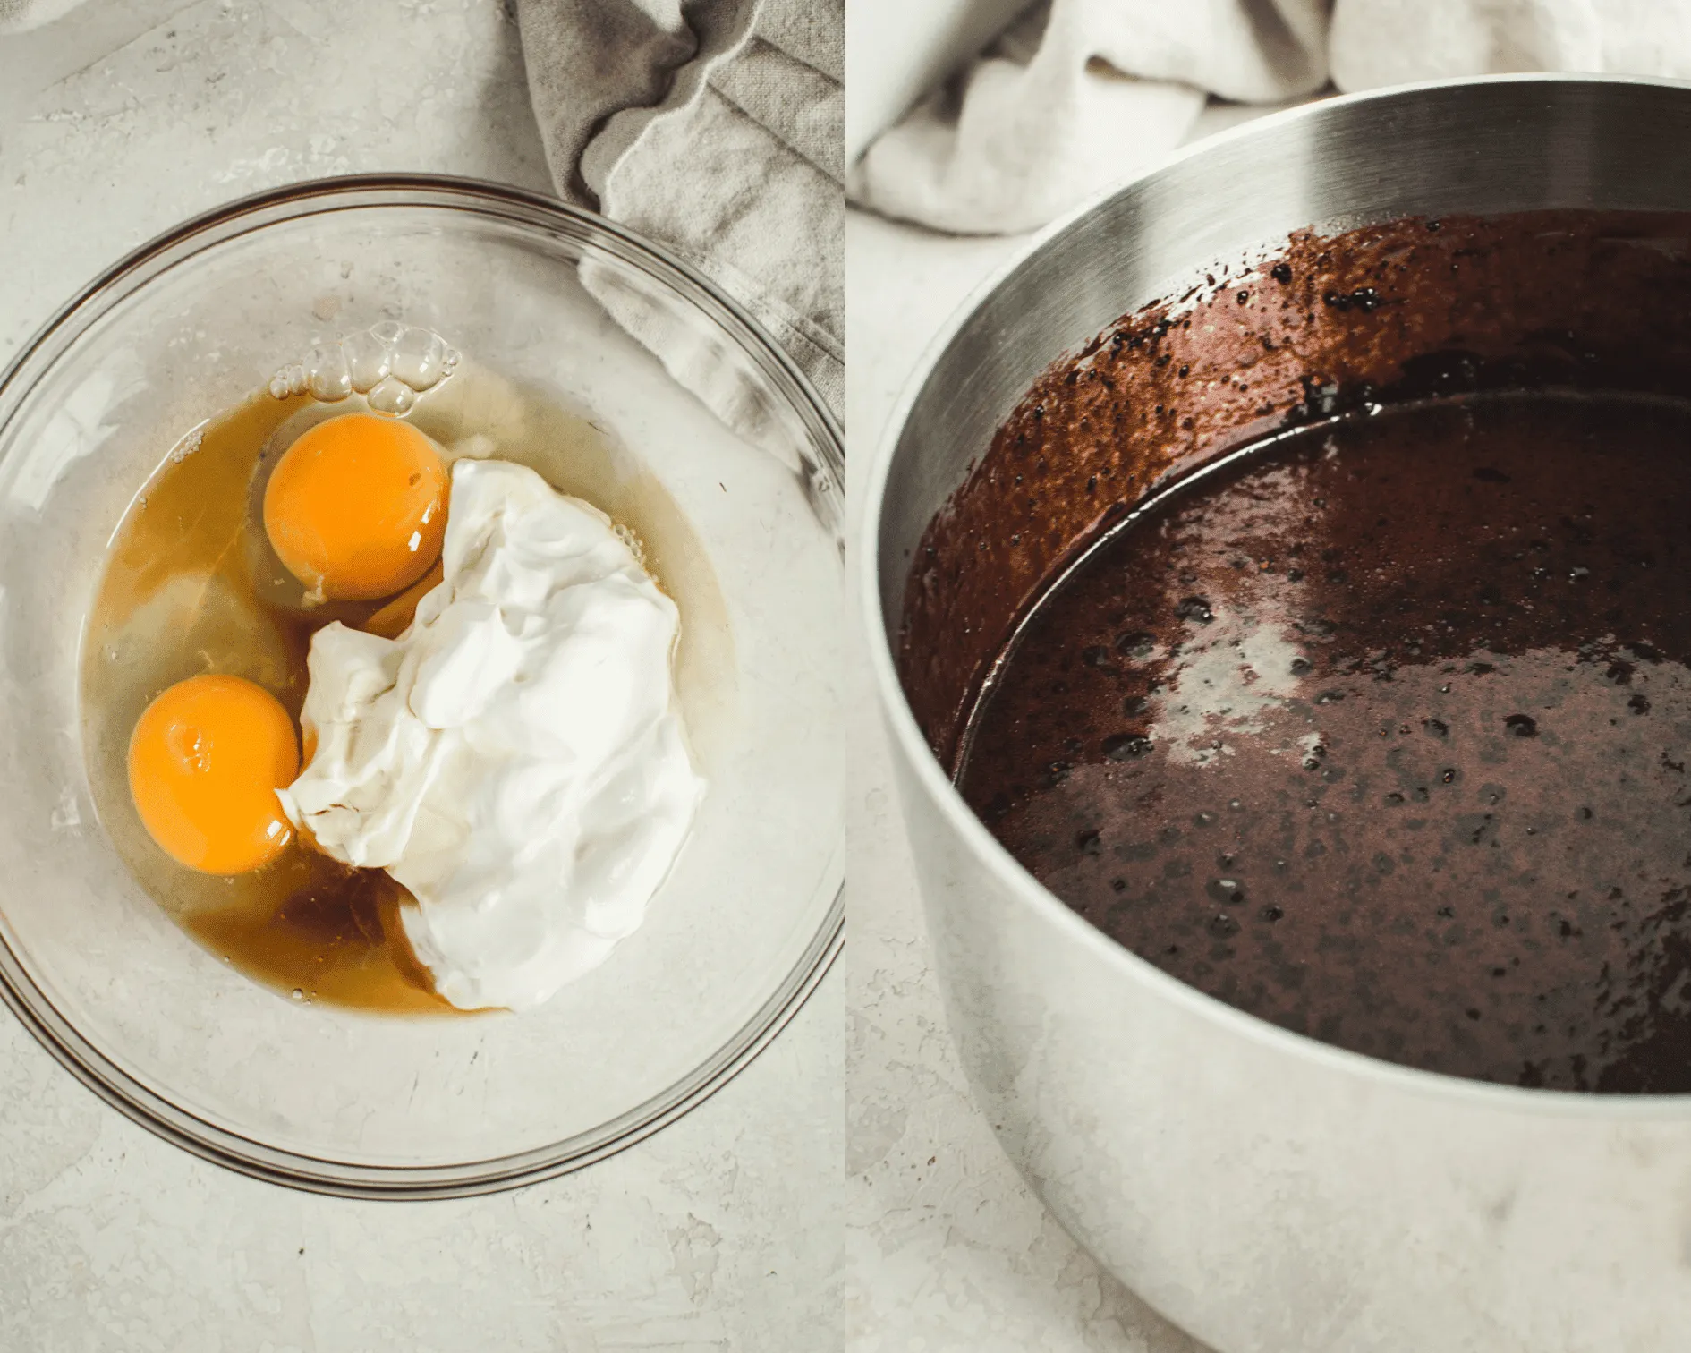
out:
M1123 316L1033 384L923 534L900 670L935 754L955 770L1020 616L1158 485L1371 401L1515 387L1691 396L1691 216L1305 232Z

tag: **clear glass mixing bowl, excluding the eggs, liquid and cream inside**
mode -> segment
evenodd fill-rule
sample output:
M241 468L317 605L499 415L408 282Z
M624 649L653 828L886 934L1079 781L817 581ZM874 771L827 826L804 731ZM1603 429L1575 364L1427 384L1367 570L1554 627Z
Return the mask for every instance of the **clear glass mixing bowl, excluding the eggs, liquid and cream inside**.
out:
M685 347L688 384L742 431L595 296ZM587 411L680 506L727 611L693 837L644 925L526 1015L279 998L140 890L90 797L78 649L125 509L191 428L380 321ZM458 179L330 179L145 245L0 375L0 994L135 1121L294 1187L512 1187L680 1116L839 950L842 484L837 423L746 311L590 213Z

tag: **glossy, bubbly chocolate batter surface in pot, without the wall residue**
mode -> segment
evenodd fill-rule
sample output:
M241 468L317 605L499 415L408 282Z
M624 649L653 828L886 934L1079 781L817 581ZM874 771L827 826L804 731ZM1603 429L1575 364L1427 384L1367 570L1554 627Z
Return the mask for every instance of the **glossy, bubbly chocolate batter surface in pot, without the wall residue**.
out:
M1691 1091L1691 404L1292 431L1045 594L960 786L1075 912L1285 1028Z

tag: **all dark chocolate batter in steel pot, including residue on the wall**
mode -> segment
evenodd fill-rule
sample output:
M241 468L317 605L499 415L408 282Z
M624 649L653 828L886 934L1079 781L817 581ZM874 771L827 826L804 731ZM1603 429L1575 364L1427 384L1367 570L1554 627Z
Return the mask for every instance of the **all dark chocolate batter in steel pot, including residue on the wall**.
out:
M1688 524L1686 218L1304 235L1030 389L901 673L1011 852L1199 989L1691 1093Z

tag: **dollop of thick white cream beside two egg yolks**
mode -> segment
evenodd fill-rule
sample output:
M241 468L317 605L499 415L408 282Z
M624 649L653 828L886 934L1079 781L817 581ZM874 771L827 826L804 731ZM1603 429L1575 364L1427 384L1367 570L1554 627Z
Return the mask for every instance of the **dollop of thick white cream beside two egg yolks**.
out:
M497 460L451 467L445 580L399 639L311 639L316 753L281 792L335 859L387 869L441 996L526 1010L631 934L703 793L671 602L610 519Z

